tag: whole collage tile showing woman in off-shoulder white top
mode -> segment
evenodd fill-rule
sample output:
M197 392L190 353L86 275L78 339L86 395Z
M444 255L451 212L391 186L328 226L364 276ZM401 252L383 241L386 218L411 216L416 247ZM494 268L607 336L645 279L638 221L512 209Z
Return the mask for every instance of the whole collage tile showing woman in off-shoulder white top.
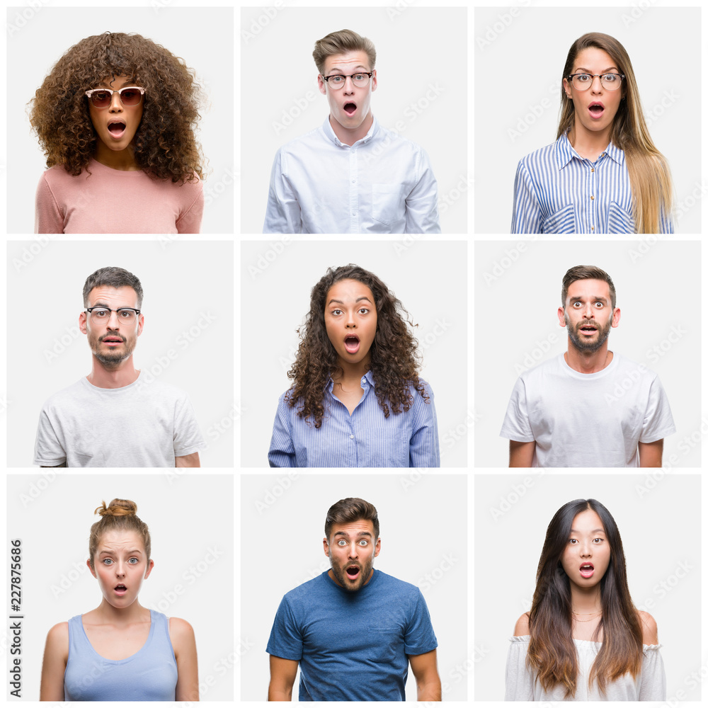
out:
M699 475L476 475L474 699L700 701L701 525ZM626 667L604 696L593 661Z

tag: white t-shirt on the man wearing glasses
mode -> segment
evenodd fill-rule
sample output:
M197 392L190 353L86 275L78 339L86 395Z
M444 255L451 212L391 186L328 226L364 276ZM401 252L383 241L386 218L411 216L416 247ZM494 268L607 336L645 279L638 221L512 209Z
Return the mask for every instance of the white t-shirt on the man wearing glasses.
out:
M42 407L34 464L57 467L174 467L206 447L187 394L146 383L118 389L82 377Z

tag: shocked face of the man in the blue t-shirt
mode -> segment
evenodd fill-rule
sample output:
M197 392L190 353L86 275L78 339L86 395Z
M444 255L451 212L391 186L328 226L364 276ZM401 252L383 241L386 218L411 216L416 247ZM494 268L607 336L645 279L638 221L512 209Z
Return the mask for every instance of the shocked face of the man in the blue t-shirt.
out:
M373 523L362 519L336 524L323 542L332 566L329 577L352 593L361 590L371 580L374 559L381 551L381 539L374 537Z

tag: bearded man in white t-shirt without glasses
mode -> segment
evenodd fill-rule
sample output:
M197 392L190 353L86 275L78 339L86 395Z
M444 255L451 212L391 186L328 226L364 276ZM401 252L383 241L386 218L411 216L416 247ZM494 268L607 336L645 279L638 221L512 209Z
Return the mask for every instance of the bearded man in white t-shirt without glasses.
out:
M607 348L619 324L612 278L593 265L568 270L558 319L568 350L511 394L501 428L509 467L661 467L676 428L658 376Z

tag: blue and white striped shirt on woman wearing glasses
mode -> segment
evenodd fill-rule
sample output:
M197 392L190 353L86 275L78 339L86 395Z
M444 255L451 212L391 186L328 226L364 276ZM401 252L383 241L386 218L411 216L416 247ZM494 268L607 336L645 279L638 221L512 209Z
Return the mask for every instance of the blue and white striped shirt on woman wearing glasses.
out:
M673 234L661 215L660 230ZM567 135L519 162L512 234L634 234L632 188L624 151L610 142L595 162Z

